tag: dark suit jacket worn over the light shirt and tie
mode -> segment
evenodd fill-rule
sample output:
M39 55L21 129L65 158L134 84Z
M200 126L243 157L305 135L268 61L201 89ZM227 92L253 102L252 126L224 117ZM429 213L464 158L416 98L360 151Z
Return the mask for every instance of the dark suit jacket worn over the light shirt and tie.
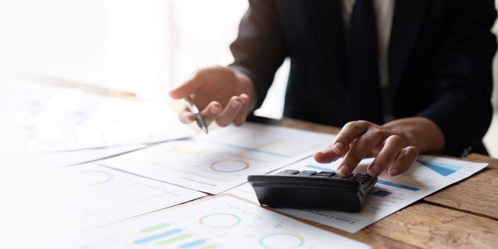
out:
M253 80L257 105L289 57L285 117L337 127L351 121L341 0L249 2L231 66ZM388 48L393 115L433 120L445 136L445 154L486 153L495 18L492 0L396 1Z

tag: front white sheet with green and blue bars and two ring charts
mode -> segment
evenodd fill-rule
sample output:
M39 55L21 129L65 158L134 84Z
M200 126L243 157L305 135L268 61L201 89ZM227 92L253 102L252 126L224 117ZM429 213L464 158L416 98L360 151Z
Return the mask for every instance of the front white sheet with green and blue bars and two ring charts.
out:
M78 248L370 248L231 196L116 223Z

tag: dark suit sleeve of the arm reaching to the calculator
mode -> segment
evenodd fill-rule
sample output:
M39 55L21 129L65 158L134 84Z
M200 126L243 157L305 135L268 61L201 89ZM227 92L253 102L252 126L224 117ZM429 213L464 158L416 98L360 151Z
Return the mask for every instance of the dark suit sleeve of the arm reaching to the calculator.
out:
M420 116L445 137L445 154L465 156L481 144L492 118L492 58L497 40L492 0L459 1L435 58L433 105ZM455 4L457 1L455 1Z

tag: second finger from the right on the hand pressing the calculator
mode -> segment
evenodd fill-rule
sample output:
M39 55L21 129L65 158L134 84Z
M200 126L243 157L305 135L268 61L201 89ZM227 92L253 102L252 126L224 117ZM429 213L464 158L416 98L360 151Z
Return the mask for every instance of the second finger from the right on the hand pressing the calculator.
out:
M378 176L386 169L403 149L403 139L397 135L391 135L384 141L384 146L377 157L366 168L371 176Z

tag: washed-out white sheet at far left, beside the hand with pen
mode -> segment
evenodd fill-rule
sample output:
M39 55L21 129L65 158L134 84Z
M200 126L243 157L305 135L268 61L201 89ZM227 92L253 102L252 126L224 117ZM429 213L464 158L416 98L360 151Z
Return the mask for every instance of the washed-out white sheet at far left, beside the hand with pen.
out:
M3 152L67 151L194 135L163 102L25 82L13 83L1 96Z

